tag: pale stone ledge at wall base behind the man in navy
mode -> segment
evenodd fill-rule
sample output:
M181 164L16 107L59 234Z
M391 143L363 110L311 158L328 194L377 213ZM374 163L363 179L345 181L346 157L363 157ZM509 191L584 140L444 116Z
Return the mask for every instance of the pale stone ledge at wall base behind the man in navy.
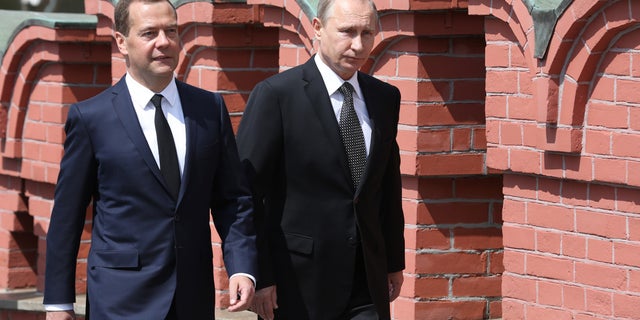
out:
M10 292L0 293L0 309L44 312L44 307L42 306L42 293L37 292L35 289L13 290ZM78 315L85 314L86 309L84 295L76 296L74 311ZM216 319L255 320L257 317L255 313L249 311L229 312L226 310L216 309Z

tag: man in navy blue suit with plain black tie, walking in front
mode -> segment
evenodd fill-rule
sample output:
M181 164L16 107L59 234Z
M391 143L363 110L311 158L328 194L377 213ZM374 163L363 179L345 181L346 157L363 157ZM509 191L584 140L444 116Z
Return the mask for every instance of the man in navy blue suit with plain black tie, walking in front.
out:
M74 317L91 200L92 319L213 319L210 210L231 275L229 310L244 310L255 290L255 231L224 102L174 79L180 45L169 1L120 0L115 22L127 74L72 105L65 126L47 234L47 319Z

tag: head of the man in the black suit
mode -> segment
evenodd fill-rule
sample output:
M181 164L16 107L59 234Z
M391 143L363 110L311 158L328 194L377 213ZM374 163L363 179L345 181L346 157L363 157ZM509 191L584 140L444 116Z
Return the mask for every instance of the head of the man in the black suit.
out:
M336 0L327 21L313 20L320 58L349 79L366 62L376 34L375 12L366 0Z

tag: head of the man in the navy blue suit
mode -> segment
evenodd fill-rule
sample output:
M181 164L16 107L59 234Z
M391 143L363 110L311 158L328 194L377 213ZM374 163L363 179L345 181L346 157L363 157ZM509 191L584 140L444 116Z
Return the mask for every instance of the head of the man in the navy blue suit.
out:
M159 92L173 79L180 43L175 12L167 2L134 2L129 7L129 34L116 32L129 74Z

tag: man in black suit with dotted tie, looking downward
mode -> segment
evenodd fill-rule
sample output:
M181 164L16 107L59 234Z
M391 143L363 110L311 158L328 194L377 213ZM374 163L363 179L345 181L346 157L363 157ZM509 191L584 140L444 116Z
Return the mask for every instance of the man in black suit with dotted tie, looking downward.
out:
M318 54L250 95L237 141L262 318L390 318L404 269L400 93L358 72L377 24L371 0L320 0Z

